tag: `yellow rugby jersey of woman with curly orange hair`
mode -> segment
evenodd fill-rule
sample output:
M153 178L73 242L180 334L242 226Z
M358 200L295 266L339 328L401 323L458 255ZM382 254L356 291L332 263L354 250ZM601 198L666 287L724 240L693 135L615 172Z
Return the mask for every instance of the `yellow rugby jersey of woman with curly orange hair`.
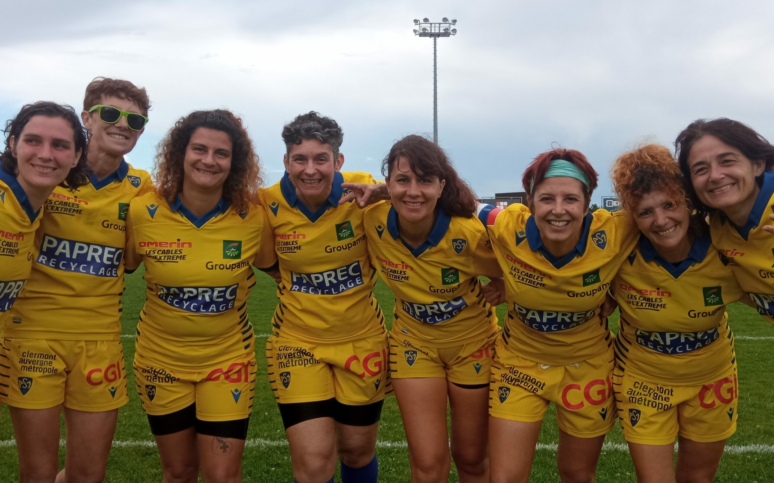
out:
M611 293L621 311L615 359L625 373L694 385L733 370L734 336L725 306L742 292L728 258L712 246L708 234L698 237L676 265L659 257L641 236Z

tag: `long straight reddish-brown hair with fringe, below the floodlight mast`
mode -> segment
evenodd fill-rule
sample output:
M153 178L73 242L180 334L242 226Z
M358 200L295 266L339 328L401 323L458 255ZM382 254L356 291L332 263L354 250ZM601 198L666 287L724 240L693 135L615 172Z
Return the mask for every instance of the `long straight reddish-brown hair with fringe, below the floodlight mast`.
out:
M433 141L416 134L396 141L382 161L382 175L391 175L399 158L406 158L411 171L417 176L437 176L446 181L438 199L438 205L446 213L465 218L473 216L478 199L471 187L457 175L444 150Z

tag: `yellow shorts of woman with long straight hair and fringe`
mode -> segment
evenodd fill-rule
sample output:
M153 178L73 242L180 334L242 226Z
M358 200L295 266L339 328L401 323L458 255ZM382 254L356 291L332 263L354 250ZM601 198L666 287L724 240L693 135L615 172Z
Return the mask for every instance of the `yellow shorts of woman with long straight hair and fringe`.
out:
M444 377L457 384L486 384L498 334L452 347L427 347L401 333L389 335L389 366L392 379Z

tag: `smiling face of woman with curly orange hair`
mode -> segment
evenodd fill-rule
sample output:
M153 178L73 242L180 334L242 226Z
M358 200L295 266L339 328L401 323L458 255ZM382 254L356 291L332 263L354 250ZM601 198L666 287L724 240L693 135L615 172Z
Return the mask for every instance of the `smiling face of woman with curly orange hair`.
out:
M684 203L676 204L665 191L650 192L639 200L635 221L664 259L681 261L688 256L690 211Z

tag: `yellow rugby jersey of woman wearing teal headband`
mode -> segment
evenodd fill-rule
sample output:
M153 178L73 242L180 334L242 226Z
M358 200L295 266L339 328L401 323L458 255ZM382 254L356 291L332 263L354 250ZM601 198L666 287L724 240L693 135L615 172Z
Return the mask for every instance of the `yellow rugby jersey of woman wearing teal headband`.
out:
M600 305L639 234L625 213L587 213L580 240L560 259L543 249L526 206L487 206L479 218L488 226L505 279L504 346L549 366L574 364L607 351L612 335L607 318L599 315Z

